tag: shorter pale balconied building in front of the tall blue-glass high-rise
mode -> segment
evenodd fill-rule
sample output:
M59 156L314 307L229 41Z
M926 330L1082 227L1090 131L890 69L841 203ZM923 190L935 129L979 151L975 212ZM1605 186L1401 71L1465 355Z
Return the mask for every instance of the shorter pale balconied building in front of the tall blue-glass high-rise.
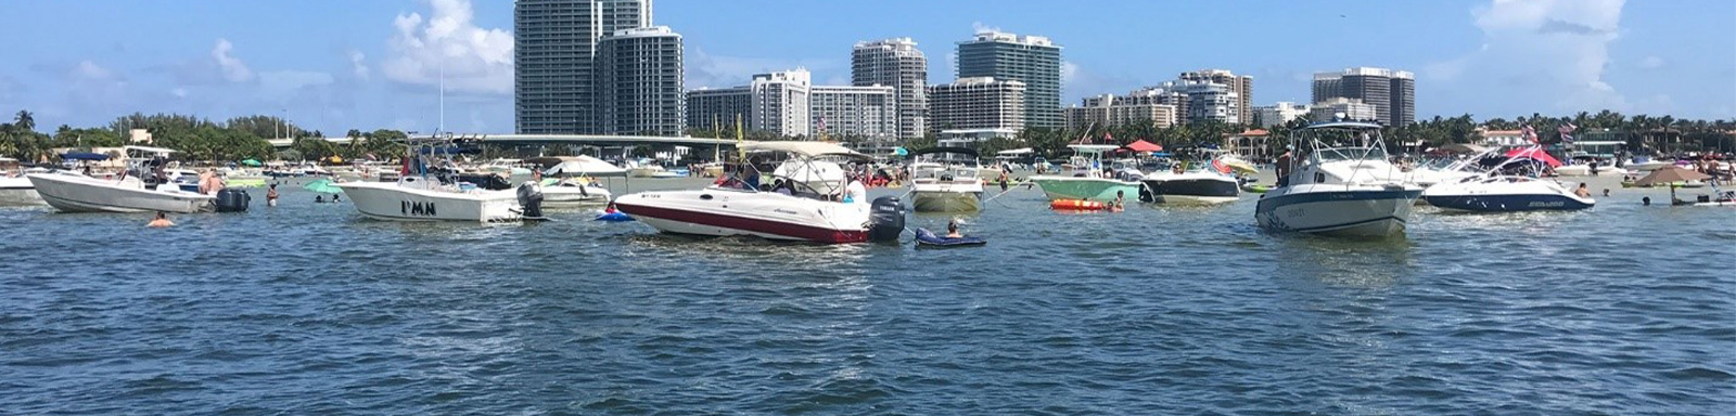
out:
M929 132L1024 128L1024 83L991 76L929 85Z

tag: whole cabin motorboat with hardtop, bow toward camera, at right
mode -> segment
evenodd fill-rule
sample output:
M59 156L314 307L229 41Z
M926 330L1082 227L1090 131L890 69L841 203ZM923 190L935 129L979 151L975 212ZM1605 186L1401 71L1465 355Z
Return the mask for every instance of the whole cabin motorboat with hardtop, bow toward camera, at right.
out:
M1342 142L1340 146L1328 146ZM1323 236L1385 237L1404 231L1422 187L1387 161L1380 125L1314 123L1292 133L1300 166L1260 196L1260 227Z

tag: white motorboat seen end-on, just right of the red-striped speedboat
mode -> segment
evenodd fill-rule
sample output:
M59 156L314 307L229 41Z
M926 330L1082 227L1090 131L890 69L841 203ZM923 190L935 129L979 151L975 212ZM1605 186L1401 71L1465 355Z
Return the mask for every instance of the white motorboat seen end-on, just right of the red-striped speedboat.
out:
M929 158L924 158L929 156ZM983 210L983 165L965 147L929 147L910 154L911 206L917 211Z

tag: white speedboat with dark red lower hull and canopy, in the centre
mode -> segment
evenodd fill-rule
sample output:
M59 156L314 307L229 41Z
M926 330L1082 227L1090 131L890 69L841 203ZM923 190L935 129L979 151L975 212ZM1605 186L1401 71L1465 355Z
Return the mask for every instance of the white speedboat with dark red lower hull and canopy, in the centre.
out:
M748 142L748 153L785 153L788 163L823 165L816 158L868 159L826 142ZM809 170L838 170L812 166ZM786 172L779 168L778 172ZM800 172L800 170L788 170ZM904 210L898 198L866 201L861 184L845 189L812 189L809 180L759 175L771 191L755 189L743 175L698 191L637 192L615 199L615 206L661 232L694 236L759 236L785 241L863 243L898 239Z

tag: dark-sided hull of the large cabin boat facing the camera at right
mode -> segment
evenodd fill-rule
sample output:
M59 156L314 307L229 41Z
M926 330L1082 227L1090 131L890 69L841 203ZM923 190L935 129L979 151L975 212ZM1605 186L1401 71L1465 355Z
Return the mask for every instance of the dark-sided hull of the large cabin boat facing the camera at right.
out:
M1342 185L1333 185L1340 187ZM1255 218L1274 231L1387 237L1404 231L1413 201L1422 189L1356 189L1293 192L1279 189L1260 196Z

